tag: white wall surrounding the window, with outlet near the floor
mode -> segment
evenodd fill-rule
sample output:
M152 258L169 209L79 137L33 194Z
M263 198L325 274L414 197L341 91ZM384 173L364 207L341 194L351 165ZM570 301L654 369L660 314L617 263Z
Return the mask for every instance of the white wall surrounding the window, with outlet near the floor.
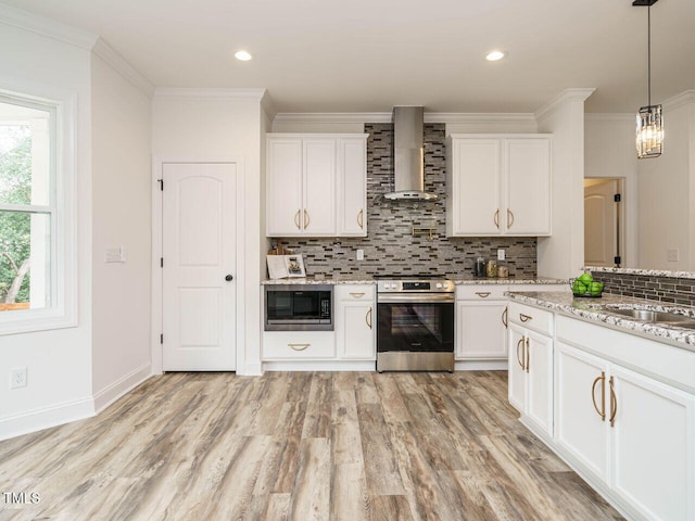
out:
M76 105L76 327L0 336L0 439L83 418L91 399L91 130L90 52L94 39L54 25L54 37L20 28L0 7L0 89ZM73 38L74 36L74 38ZM68 42L72 41L72 42ZM27 386L10 390L9 371L27 368Z

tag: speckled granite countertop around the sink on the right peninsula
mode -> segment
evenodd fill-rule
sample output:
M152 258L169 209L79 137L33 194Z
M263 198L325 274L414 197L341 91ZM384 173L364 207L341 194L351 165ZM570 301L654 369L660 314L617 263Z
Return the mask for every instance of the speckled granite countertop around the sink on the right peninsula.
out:
M639 308L655 312L678 313L695 318L695 308L669 305L658 301L635 298L604 293L601 298L574 297L571 292L515 292L507 295L511 301L544 307L564 315L578 317L587 322L602 322L615 329L626 330L652 340L666 340L672 345L695 352L695 330L659 322L646 322L610 313L610 309Z

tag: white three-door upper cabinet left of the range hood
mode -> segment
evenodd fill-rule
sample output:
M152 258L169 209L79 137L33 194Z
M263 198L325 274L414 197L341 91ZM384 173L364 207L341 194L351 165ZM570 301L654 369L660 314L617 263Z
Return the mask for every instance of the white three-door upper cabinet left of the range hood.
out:
M366 236L366 135L268 134L268 237Z

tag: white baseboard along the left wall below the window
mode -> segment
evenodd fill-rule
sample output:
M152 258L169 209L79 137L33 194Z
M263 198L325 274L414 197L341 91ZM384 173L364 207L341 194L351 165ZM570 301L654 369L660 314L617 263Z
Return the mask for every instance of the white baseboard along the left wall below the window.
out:
M94 416L94 401L91 396L50 407L0 418L0 440L21 436L30 432L62 425L71 421L84 420Z

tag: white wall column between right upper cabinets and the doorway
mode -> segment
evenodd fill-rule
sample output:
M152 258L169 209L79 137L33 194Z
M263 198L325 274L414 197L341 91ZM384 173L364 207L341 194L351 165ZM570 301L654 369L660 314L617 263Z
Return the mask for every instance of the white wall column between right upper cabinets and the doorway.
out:
M584 101L594 89L568 89L538 112L553 134L553 236L539 238L541 277L574 277L584 265Z

